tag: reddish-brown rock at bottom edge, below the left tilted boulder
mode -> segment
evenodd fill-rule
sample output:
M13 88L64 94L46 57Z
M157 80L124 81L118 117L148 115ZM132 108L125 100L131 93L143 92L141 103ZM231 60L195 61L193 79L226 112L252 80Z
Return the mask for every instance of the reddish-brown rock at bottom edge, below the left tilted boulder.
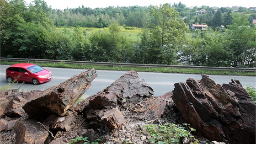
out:
M17 121L11 133L16 133L16 144L44 144L48 131L35 120Z

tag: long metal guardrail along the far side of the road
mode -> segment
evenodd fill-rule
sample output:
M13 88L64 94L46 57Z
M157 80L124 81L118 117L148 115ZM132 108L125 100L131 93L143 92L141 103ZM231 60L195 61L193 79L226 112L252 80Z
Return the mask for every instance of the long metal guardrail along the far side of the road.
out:
M154 68L176 68L176 69L233 70L233 71L256 72L255 68L229 68L229 67L186 66L186 65L166 65L166 64L126 64L126 63L88 62L88 61L74 61L74 60L19 59L19 58L0 58L0 60L22 61L22 62L48 62L48 63L66 63L66 64L94 64L94 65L108 65L108 66L154 67Z

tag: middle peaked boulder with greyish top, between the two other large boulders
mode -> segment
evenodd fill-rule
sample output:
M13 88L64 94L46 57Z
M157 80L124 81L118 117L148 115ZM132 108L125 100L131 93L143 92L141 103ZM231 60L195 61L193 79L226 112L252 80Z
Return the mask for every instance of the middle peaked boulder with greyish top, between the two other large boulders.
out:
M78 106L83 105L88 109L102 109L116 107L117 103L125 105L125 103L133 103L141 101L146 97L153 96L153 89L139 77L134 70L122 75L119 79L114 81L106 89L99 91L97 94L88 97L82 101ZM77 108L78 111L82 111Z

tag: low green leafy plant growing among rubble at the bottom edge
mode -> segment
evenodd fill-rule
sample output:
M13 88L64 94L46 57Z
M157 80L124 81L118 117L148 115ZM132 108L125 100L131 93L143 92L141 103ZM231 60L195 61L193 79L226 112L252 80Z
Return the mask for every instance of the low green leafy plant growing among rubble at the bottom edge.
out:
M184 124L190 126L189 124ZM195 131L194 128L190 128L187 131L184 127L179 127L174 123L164 123L158 125L147 125L147 132L152 137L149 139L151 144L179 144L179 140L182 137L194 138L191 131ZM197 141L196 139L194 139ZM197 141L198 142L198 141Z

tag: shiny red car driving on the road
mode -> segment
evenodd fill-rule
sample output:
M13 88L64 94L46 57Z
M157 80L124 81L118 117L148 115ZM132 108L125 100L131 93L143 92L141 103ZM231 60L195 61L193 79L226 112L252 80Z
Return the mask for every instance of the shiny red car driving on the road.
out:
M20 63L13 64L6 69L6 80L9 82L24 81L38 85L51 80L52 73L37 64Z

